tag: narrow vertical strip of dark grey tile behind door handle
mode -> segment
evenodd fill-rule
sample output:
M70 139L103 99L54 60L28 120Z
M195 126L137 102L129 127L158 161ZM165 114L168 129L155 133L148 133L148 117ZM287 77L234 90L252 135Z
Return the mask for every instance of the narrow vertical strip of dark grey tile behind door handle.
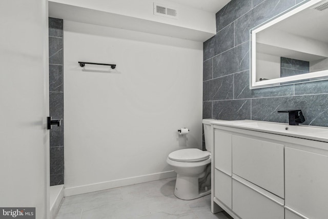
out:
M61 119L50 130L50 186L64 184L63 20L49 17L49 111Z

